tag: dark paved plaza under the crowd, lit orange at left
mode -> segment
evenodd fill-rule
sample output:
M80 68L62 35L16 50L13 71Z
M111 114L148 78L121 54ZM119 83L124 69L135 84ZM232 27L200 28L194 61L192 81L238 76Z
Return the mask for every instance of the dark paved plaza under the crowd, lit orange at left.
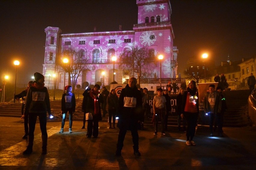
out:
M166 135L154 135L153 127L139 130L140 157L133 155L130 131L126 133L122 156L114 155L118 128L99 123L98 138L87 138L82 122L73 121L68 133L58 133L61 122L47 122L47 154L41 154L41 131L36 124L31 155L23 155L27 140L20 118L0 117L0 169L255 169L256 128L224 127L224 137L209 137L208 126L198 126L196 146L185 144L186 133L169 127ZM87 124L86 124L87 125Z

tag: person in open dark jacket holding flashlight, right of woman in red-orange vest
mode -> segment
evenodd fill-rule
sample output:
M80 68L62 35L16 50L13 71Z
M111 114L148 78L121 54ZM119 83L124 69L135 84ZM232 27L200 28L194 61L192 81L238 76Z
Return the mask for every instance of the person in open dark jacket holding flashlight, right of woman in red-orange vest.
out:
M213 137L213 122L216 113L221 113L221 99L219 92L215 91L215 85L209 85L209 92L204 97L204 111L209 116L210 136Z

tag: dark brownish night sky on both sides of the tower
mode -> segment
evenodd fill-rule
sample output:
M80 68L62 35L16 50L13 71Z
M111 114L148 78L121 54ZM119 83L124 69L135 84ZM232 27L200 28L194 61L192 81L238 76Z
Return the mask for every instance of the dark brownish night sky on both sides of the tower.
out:
M171 0L178 72L190 57L208 52L215 65L256 55L256 1ZM62 33L133 30L136 0L0 1L0 84L4 75L15 81L13 61L20 60L17 84L43 71L47 26Z

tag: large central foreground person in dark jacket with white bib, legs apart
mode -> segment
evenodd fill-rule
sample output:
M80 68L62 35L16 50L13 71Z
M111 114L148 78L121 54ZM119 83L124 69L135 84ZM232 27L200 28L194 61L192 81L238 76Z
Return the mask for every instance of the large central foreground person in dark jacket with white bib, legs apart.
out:
M120 129L117 141L116 156L121 156L123 141L127 130L131 130L133 136L133 153L140 156L139 135L137 124L142 119L142 95L136 87L137 80L131 77L125 88L122 89L117 106L118 128Z

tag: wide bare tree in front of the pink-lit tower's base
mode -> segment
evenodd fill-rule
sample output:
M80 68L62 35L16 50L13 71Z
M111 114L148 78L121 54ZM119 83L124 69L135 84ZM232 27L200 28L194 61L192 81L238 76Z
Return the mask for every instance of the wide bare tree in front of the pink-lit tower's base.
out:
M123 51L119 56L119 68L129 76L137 76L138 84L141 78L153 76L152 67L155 66L156 57L150 55L148 47L133 47L132 51Z

